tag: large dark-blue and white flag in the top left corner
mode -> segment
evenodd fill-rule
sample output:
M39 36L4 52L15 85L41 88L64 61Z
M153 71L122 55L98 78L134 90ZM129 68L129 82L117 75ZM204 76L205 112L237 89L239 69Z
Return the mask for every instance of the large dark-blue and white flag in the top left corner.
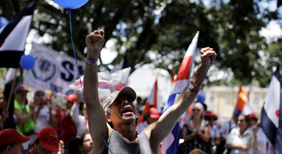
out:
M32 1L0 29L0 67L20 67L34 9Z

